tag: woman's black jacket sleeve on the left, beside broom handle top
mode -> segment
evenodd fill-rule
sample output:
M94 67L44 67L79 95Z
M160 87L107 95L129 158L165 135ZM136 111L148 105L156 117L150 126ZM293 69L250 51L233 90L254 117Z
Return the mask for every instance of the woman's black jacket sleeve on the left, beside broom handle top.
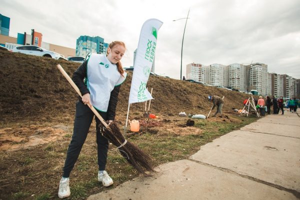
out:
M79 88L81 95L89 93L83 79L86 77L87 60L84 61L73 73L72 80Z

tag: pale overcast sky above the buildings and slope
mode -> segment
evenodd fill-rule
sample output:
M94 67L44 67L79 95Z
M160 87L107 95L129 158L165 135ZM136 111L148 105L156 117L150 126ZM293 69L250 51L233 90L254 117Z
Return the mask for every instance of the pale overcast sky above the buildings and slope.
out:
M124 66L133 64L140 28L163 22L155 73L180 78L186 64L261 62L268 72L300 78L300 0L1 0L11 36L35 29L45 42L76 47L80 35L126 43Z

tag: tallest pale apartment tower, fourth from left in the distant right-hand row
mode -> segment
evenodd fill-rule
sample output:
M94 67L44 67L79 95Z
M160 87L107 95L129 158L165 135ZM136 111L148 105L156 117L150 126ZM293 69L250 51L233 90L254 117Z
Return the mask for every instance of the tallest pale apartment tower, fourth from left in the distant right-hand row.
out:
M263 63L253 63L247 65L249 77L248 90L255 89L258 94L267 93L267 65Z

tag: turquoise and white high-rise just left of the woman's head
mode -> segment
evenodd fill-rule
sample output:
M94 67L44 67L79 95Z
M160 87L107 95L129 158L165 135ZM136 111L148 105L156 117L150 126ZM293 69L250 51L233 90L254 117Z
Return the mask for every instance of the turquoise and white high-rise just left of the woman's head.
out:
M76 56L86 57L88 53L106 54L108 43L99 36L79 36L76 40Z

